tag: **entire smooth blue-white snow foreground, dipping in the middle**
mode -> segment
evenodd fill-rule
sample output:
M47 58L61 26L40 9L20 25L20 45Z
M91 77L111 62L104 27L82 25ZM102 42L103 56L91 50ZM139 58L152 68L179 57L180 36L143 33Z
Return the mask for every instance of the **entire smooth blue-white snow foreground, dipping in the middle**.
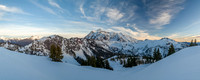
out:
M185 48L161 61L114 71L51 62L0 47L0 80L200 80L200 47Z

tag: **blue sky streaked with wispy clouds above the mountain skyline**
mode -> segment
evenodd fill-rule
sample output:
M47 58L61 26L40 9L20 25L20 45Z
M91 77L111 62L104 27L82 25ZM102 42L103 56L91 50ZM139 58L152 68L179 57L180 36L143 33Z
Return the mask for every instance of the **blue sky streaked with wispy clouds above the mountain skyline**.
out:
M0 36L84 37L100 28L190 41L199 39L199 14L200 0L1 0Z

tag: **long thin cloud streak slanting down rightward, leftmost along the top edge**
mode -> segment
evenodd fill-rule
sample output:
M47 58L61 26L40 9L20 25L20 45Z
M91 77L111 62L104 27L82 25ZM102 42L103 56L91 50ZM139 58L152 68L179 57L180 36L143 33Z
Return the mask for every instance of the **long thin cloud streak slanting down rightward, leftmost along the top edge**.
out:
M45 11L47 11L47 12L53 14L53 15L57 15L56 12L54 12L51 8L46 7L46 6L44 6L44 5L41 5L41 4L39 4L39 3L37 3L36 1L33 1L33 0L31 0L31 2L32 2L34 5L36 5L37 7L41 8L41 9L43 9L43 10L45 10Z

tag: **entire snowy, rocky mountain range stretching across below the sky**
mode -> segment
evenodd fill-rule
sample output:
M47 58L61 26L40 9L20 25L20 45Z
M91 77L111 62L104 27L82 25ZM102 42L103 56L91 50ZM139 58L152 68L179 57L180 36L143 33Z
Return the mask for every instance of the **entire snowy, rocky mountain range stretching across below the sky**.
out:
M159 48L163 56L167 55L171 44L179 51L188 46L185 42L176 42L169 38L160 40L137 40L129 35L103 30L91 31L84 38L64 38L59 35L25 39L0 39L0 46L10 50L39 56L48 56L50 45L56 44L62 48L62 53L74 58L86 60L86 56L109 58L116 54L131 54L137 56L153 55L153 50Z

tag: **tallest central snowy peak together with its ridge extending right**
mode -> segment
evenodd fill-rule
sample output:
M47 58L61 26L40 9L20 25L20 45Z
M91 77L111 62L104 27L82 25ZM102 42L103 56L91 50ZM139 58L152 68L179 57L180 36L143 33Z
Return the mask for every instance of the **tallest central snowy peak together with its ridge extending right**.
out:
M169 38L160 40L137 40L122 33L106 32L102 30L91 31L86 39L94 39L100 45L109 48L113 53L134 54L134 55L152 55L154 48L159 48L163 56L168 53L171 44L174 45L176 51L179 51L187 44L176 42Z

